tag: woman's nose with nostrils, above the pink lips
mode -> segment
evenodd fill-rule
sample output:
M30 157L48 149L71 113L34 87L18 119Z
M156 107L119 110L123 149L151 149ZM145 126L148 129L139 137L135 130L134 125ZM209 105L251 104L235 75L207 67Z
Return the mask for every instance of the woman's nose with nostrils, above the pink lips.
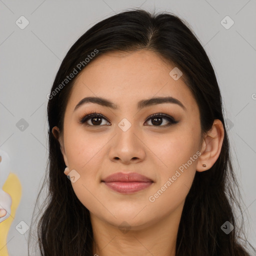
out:
M126 131L116 127L116 135L110 146L111 161L120 161L123 164L136 163L143 161L146 155L145 141L132 125Z

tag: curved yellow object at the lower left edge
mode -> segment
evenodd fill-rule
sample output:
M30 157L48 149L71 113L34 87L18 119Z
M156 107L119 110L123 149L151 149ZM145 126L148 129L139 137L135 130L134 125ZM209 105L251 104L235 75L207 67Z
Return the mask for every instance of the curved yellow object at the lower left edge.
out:
M7 192L12 199L12 203L10 207L10 216L0 223L0 256L8 256L8 250L6 245L7 234L8 234L11 222L15 217L15 212L18 207L20 197L21 197L21 192L22 192L21 183L17 175L10 172L5 183L3 184L2 190Z

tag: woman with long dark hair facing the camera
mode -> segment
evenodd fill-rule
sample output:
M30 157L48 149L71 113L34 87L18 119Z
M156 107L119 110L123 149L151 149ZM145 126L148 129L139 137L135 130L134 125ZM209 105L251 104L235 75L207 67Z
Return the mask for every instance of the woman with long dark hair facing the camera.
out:
M41 255L249 255L219 87L188 24L141 9L98 22L47 97Z

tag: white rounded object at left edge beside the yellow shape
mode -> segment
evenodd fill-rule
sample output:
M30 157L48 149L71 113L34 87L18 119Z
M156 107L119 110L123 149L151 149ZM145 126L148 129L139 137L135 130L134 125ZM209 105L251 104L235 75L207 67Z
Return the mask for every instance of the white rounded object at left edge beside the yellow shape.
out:
M0 217L0 222L5 220L10 215L11 197L8 193L2 190L3 184L5 183L10 173L10 158L8 154L0 149L0 209L5 209L6 214Z

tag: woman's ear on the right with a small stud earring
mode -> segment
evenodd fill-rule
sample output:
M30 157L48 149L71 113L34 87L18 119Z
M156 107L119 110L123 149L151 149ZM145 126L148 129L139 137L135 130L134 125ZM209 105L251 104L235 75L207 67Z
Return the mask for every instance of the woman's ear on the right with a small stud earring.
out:
M207 170L214 164L220 154L223 138L223 124L219 119L215 119L211 129L203 138L200 150L201 155L198 157L198 162L196 165L197 171ZM206 166L203 167L203 164L206 164Z

